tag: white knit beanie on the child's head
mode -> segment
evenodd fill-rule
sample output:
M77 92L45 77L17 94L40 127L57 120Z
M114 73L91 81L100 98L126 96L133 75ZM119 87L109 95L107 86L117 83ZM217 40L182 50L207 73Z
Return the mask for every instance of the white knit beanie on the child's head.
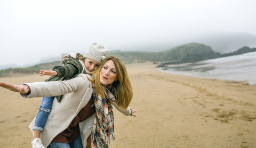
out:
M89 49L85 52L84 57L95 60L99 64L105 59L108 55L108 49L101 46L99 43L92 43L89 46Z

